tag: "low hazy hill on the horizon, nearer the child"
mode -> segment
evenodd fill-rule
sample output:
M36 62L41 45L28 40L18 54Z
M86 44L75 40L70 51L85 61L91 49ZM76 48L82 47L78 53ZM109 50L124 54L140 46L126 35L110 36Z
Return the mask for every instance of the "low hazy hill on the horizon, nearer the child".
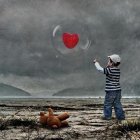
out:
M90 88L67 88L61 90L53 96L99 96L98 92L95 92L95 89Z

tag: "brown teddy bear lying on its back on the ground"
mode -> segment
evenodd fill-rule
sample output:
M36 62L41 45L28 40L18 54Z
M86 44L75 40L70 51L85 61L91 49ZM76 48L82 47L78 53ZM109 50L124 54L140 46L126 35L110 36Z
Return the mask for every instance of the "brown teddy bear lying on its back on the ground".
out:
M67 112L56 115L53 113L51 108L48 108L48 114L40 112L39 121L41 124L48 125L51 128L60 128L68 126L68 122L66 121L67 118L69 118L69 114Z

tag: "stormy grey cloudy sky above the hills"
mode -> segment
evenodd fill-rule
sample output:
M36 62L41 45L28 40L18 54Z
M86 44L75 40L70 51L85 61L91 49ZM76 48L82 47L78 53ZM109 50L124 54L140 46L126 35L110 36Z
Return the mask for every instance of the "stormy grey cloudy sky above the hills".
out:
M83 87L104 95L92 61L105 66L117 53L123 93L139 95L139 15L139 0L0 0L0 82L32 95ZM63 32L80 34L79 46L67 49Z

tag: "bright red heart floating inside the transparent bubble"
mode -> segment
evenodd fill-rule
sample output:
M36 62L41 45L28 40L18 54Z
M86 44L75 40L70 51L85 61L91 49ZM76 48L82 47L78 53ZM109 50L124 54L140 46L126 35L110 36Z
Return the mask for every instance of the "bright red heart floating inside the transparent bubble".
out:
M63 42L69 49L76 47L79 42L78 34L63 33Z

